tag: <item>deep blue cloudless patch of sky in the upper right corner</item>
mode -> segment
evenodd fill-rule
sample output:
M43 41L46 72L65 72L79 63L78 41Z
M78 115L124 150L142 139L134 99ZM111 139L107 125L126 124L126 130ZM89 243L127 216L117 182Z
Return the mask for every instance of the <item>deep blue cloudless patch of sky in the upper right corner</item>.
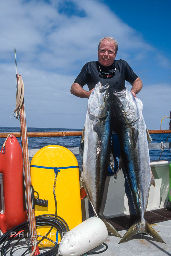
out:
M106 3L129 26L143 34L149 44L171 57L169 19L171 2L168 0L101 1Z

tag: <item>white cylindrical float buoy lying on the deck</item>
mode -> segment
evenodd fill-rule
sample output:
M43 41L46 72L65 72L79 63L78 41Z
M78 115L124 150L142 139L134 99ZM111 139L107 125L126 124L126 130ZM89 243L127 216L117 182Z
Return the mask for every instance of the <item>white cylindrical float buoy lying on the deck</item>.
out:
M104 222L98 217L91 217L63 234L59 253L62 256L80 256L101 245L107 235Z

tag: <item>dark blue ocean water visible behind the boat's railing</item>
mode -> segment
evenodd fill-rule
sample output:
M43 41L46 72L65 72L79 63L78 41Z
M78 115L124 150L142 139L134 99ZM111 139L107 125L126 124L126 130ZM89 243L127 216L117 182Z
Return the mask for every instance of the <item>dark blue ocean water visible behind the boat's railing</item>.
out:
M81 131L82 129L62 129L62 128L31 128L28 127L28 132L50 132L50 131ZM0 127L0 133L20 132L20 127ZM168 134L151 134L153 141L151 143L166 142ZM17 138L20 145L21 139ZM42 148L47 145L61 145L66 148L80 147L80 136L65 136L65 137L34 137L28 138L29 149ZM0 138L0 148L2 148L5 138ZM171 142L171 135L167 142ZM159 160L161 150L150 150L150 161ZM76 156L79 166L81 166L80 156ZM169 149L164 149L160 160L171 160L171 152Z

